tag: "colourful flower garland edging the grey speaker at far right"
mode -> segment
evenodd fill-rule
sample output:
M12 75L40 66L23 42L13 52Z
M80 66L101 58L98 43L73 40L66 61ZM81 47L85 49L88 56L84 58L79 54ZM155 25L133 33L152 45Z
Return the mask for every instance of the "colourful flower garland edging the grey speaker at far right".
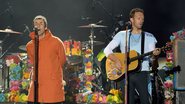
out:
M173 46L174 40L176 39L185 39L185 29L182 29L180 31L174 32L173 36L170 36L171 42L168 42L168 44L171 44ZM167 51L166 52L166 65L163 66L163 69L166 72L170 72L174 67L174 52L173 50ZM174 99L174 85L173 85L173 78L174 77L174 72L169 73L164 82L164 103L165 104L173 104L173 99Z

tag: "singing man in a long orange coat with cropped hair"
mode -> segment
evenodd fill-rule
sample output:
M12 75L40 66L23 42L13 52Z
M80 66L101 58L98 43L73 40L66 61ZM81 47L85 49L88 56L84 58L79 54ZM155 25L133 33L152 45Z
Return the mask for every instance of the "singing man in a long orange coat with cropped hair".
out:
M65 100L62 66L66 62L66 55L63 42L49 31L44 16L36 16L33 25L39 36L38 102L61 104ZM31 41L27 43L26 49L29 59L34 63L35 32L31 32L29 36ZM34 74L31 78L28 104L34 103Z

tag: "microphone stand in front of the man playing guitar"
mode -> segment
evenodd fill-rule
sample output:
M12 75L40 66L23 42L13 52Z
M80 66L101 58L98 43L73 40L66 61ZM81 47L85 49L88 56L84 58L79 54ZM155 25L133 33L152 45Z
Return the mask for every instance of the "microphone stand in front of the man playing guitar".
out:
M128 65L129 65L129 51L130 49L128 49L128 26L126 25L126 36L125 36L125 61L124 61L124 65L125 65L125 103L124 104L128 104ZM129 39L130 40L130 39ZM130 43L130 42L129 42Z

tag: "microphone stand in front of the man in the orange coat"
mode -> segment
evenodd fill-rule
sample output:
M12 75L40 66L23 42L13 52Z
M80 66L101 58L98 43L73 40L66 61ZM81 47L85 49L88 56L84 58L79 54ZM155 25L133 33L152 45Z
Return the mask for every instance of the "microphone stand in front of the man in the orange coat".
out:
M35 59L34 59L34 104L37 104L38 102L38 56L39 56L39 35L38 35L38 29L35 28L35 41L34 41L34 53L35 53Z

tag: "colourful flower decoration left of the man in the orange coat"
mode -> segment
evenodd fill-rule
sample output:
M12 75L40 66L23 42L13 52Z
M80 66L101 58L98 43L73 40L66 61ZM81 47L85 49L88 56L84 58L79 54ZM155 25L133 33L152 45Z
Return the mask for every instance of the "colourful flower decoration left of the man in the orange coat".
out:
M27 102L29 76L33 66L27 60L26 53L9 55L5 61L9 69L10 88L0 93L0 102Z

